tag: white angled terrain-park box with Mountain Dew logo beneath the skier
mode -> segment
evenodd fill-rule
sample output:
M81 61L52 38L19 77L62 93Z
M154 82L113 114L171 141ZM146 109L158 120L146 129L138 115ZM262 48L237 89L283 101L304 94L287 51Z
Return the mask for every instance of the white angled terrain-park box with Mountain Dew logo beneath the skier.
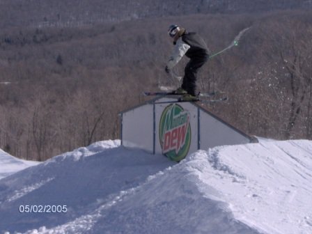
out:
M155 98L120 113L121 144L180 161L196 150L254 142L196 102Z

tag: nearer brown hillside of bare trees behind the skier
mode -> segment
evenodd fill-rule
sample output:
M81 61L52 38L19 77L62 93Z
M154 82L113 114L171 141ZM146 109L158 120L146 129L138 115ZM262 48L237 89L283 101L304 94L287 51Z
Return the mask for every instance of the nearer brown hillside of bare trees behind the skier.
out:
M164 65L172 23L200 33L212 53L251 27L237 47L205 65L198 90L226 91L228 102L208 108L249 134L312 139L311 15L288 10L7 27L0 32L0 148L44 160L117 139L118 112L144 102L142 91L171 82ZM180 75L186 62L176 69Z

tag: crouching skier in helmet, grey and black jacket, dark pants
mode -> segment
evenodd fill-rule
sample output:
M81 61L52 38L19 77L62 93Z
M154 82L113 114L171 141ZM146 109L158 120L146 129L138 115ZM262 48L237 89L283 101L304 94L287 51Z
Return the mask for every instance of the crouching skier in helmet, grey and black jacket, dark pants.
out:
M197 33L189 33L176 24L169 26L168 33L173 38L173 45L175 46L165 71L170 73L170 70L182 59L182 56L187 56L190 60L185 67L182 86L176 90L176 93L182 95L182 100L198 100L195 93L196 75L199 68L209 59L208 47Z

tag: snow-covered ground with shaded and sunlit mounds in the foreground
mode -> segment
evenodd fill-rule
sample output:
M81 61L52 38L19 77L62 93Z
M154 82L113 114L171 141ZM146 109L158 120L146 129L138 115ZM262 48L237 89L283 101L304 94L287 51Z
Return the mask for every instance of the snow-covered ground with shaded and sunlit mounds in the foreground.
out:
M22 171L2 153L0 233L312 233L312 141L259 140L179 164L120 141Z

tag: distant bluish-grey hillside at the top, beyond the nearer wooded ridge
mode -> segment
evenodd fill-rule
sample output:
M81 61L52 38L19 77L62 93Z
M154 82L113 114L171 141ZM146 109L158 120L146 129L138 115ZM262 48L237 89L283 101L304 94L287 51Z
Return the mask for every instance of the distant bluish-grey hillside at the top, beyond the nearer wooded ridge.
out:
M260 13L311 7L311 0L1 0L0 26L67 27L198 13Z

